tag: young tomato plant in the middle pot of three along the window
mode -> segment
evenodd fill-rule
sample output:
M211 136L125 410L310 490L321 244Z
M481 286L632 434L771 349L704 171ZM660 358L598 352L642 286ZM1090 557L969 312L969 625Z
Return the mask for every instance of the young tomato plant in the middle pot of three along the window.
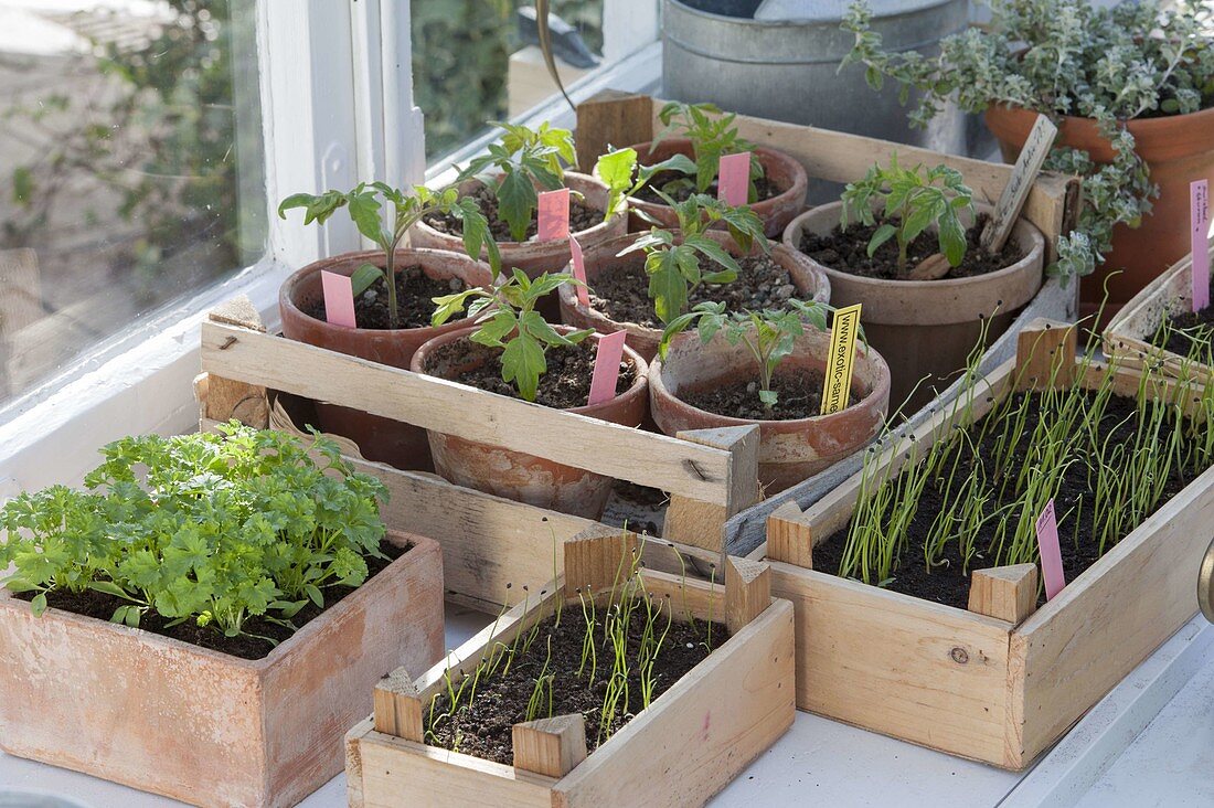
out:
M505 135L489 145L488 154L469 163L459 179L477 179L492 188L498 198L498 214L510 227L510 238L522 242L539 207L537 187L544 191L563 187L562 160L573 164L578 159L573 132L554 129L548 122L534 130L517 124L494 125L505 130Z

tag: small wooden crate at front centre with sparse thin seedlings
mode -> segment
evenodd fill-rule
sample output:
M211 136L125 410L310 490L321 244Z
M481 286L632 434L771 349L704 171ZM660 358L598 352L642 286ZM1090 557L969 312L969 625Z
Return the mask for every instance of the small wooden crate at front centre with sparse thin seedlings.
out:
M346 736L350 804L703 804L775 742L795 714L793 608L770 597L767 565L733 558L724 588L639 572L648 592L670 593L696 617L726 616L732 637L589 756L582 716L516 724L516 739L523 731L535 742L516 740L514 765L422 742L424 711L448 677L458 686L492 643L509 643L551 615L558 600L579 609L578 597L568 593L609 589L614 559L628 552L628 542L615 530L567 543L567 577L544 587L541 600L520 604L418 679L405 671L386 677L376 689L374 716ZM609 563L574 561L596 556Z

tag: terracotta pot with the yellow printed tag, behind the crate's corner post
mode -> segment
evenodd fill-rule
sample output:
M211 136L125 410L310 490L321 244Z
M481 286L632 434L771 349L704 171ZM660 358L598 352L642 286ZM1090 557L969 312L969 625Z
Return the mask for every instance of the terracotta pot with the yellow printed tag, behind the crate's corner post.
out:
M807 328L778 373L826 371L830 334ZM830 416L796 420L728 418L692 407L682 396L724 384L759 378L750 350L720 337L704 345L698 338L675 341L666 358L649 366L649 405L666 435L686 429L716 429L759 424L759 482L764 493L783 491L863 448L881 430L890 406L890 368L863 345L856 346L852 400ZM855 401L858 397L858 401Z

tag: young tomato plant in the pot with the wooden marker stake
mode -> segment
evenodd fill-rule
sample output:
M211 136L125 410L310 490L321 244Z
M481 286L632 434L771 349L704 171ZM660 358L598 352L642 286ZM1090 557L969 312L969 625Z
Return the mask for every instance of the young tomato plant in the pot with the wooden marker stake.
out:
M965 258L965 227L958 213L974 211L974 192L970 191L955 169L937 165L924 170L923 165L903 169L898 156L890 156L886 168L873 165L863 180L851 182L843 192L843 228L852 219L872 226L877 224L873 202L881 203L881 225L868 242L868 255L890 241L897 239L898 270L907 270L907 248L931 225L936 225L940 252L951 266L958 266Z

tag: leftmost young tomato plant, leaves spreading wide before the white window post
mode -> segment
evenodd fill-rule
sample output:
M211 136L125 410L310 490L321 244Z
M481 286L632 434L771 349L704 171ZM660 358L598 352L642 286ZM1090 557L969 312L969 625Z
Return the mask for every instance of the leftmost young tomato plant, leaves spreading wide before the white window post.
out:
M392 204L391 227L384 225L384 202ZM359 182L353 191L346 193L325 191L319 196L291 194L278 205L278 215L285 219L287 211L293 208L304 208L305 225L311 225L313 221L323 225L329 220L329 216L341 208L346 208L354 226L358 227L358 232L384 250L386 259L384 270L371 264L363 264L354 270L350 281L357 298L379 278L387 278L385 286L387 286L387 311L391 328L397 328L399 323L396 301L396 248L409 228L421 221L422 216L432 213L455 216L464 222L464 249L467 254L473 259L480 259L481 249L484 248L489 254L489 264L493 266L494 275L501 266L498 245L489 235L489 222L481 214L476 202L460 199L455 188L432 191L424 185L415 185L409 191L401 191L384 182Z

